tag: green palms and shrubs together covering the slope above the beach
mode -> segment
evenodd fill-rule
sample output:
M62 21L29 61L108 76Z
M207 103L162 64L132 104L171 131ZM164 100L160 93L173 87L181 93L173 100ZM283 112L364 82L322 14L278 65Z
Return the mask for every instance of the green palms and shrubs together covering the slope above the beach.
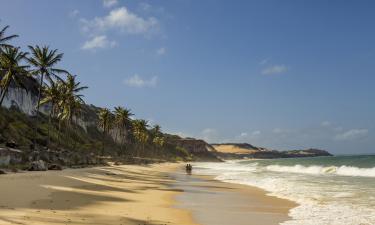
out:
M0 31L0 105L9 87L25 89L38 97L35 116L18 108L0 107L0 145L13 141L20 149L53 149L103 156L192 159L189 152L169 141L159 125L132 119L123 106L114 110L86 105L86 89L77 76L57 68L63 53L48 46L28 46L30 53L9 44L18 35ZM30 85L30 83L32 85ZM28 85L26 85L28 84ZM40 112L46 105L48 113ZM38 112L38 113L36 113Z

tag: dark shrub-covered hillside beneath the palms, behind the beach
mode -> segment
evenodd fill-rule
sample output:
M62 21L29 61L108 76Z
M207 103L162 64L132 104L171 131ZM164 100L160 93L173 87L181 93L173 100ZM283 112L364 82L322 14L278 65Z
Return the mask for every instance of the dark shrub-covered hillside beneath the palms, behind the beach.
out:
M116 139L116 129L107 135L98 127L98 110L98 107L85 105L77 123L67 126L55 119L49 124L48 116L43 114L37 122L35 116L21 112L16 106L10 109L0 107L0 167L28 165L37 160L62 166L104 163L103 159L123 163L218 161L207 150L209 145L206 142L191 139L186 144L183 138L165 133L162 134L165 138L162 147L147 142L140 149L131 134L122 144ZM34 139L35 149L31 148ZM9 144L14 145L13 148L7 148Z

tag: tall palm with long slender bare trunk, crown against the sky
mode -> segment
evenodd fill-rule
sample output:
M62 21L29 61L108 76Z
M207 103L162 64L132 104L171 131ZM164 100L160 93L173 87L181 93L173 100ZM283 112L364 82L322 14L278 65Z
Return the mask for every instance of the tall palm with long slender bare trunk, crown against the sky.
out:
M54 83L53 78L61 80L58 74L67 73L67 71L55 68L56 64L61 61L63 54L57 53L57 49L50 50L48 46L35 47L29 46L32 57L28 58L29 64L33 66L32 74L35 76L40 75L40 86L38 94L38 102L36 106L36 122L38 122L38 113L40 108L40 100L42 95L42 88L44 86L44 77L50 84ZM35 126L34 146L36 144L37 126Z

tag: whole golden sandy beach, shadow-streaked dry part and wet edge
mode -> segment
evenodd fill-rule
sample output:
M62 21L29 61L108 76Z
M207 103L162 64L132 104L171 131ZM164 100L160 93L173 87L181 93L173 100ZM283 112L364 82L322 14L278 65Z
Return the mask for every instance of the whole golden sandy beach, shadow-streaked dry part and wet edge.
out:
M278 224L294 206L260 189L187 176L181 166L1 175L0 224Z

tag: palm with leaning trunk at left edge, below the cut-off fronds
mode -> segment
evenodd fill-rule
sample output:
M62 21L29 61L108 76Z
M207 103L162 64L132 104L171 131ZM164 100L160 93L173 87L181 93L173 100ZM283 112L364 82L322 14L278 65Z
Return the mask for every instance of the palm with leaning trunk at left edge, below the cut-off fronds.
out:
M26 89L24 83L25 78L28 77L28 66L21 65L21 62L26 59L26 55L27 53L20 51L19 48L13 47L5 47L0 54L0 72L4 74L0 81L0 106L3 104L11 83Z

